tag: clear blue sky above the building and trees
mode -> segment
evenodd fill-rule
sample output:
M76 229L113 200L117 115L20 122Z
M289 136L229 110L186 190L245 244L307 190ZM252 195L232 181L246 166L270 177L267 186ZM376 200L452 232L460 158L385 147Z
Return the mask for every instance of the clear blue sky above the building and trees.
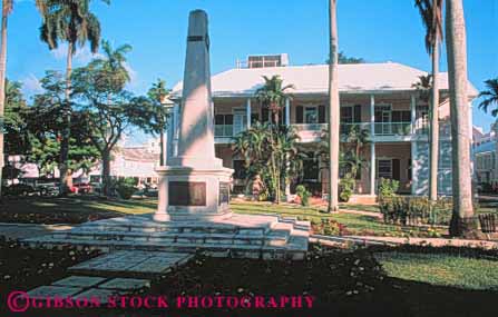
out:
M8 77L25 83L28 95L39 90L45 70L65 67L65 50L50 52L39 40L41 19L33 0L18 0L9 20ZM212 71L235 66L251 53L290 55L292 65L323 63L328 58L328 0L94 0L102 37L115 46L129 43L133 81L145 92L157 78L174 86L183 75L188 12L209 14ZM397 61L430 70L423 27L413 0L339 0L339 46L349 56L369 62ZM498 1L465 0L469 78L498 77ZM76 65L91 58L88 48ZM446 60L441 62L446 70ZM489 129L490 115L475 107L475 125Z

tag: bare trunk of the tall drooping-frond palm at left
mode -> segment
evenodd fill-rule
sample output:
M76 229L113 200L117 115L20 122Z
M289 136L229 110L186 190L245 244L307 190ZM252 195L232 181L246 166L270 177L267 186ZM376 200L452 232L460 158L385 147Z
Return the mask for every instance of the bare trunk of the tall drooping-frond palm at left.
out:
M72 186L72 175L68 167L69 160L69 138L71 135L71 105L70 105L70 92L71 92L71 72L72 72L72 43L68 43L68 56L66 63L66 100L62 110L62 136L60 140L60 194L64 196L68 192L68 189Z

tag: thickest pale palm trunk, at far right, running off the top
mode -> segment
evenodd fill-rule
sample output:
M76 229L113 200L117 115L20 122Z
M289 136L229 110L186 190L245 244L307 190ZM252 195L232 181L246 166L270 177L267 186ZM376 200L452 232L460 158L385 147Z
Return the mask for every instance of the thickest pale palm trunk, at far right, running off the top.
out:
M467 98L467 39L462 0L448 0L446 41L451 116L453 214L450 235L479 238L470 175L470 122Z

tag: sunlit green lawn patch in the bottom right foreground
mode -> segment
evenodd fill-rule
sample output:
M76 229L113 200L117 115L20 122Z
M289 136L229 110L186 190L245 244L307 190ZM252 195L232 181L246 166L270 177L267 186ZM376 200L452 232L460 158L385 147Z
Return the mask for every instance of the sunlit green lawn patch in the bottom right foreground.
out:
M496 260L408 252L379 252L375 258L390 277L438 286L498 290Z

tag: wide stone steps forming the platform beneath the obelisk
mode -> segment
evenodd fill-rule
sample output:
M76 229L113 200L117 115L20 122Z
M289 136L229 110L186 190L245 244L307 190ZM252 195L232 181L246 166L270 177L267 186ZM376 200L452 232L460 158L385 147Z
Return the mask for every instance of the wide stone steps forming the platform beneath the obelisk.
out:
M195 252L245 258L302 258L310 222L296 218L236 215L221 222L155 222L126 217L84 224L26 241L45 247L76 245L102 251Z

